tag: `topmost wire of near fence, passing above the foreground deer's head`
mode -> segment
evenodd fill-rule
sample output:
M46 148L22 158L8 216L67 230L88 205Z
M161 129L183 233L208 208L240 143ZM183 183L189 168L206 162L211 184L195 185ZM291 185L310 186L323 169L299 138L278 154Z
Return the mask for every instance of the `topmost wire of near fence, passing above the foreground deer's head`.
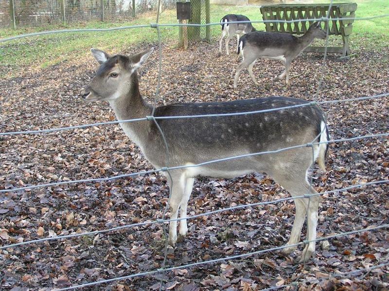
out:
M381 17L388 17L389 14L383 14L383 15L377 15L377 16L368 16L368 17L341 17L341 18L328 18L328 17L320 17L320 18L310 18L310 19L303 19L304 21L344 21L344 20L371 20L375 18L381 18ZM291 19L291 20L253 20L253 21L229 21L229 23L293 23L293 22L300 22L301 19ZM26 34L20 34L12 37L2 38L0 39L0 42L6 42L10 40L15 40L19 38L24 37L30 37L30 36L38 36L38 35L44 35L44 34L53 34L53 33L64 33L64 32L111 32L111 31L117 31L117 30L124 30L124 29L134 29L134 28L157 28L157 27L179 27L179 26L196 26L196 27L206 27L206 26L213 26L213 25L221 25L220 22L213 22L213 23L205 23L205 24L196 24L196 23L150 23L150 24L137 24L137 25L129 25L129 26L121 26L121 27L112 27L112 28L90 28L90 29L64 29L64 30L56 30L56 31L44 31L44 32L33 32L33 33L26 33Z

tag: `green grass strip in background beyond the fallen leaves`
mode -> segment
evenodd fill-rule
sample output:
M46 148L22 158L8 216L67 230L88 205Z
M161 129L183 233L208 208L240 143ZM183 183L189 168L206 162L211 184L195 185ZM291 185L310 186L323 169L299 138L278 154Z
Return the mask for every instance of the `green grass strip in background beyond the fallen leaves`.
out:
M389 13L388 0L362 0L357 1L357 3L357 17L376 16ZM222 16L229 13L243 14L248 16L251 20L262 20L258 6L211 5L211 22L219 22ZM0 38L45 30L108 28L135 24L148 24L155 22L155 18L155 13L147 13L140 15L139 18L133 21L120 23L88 22L69 24L67 26L55 25L50 27L18 28L16 31L11 29L0 29ZM176 11L164 11L160 17L160 23L177 23ZM265 28L262 23L257 23L254 26L260 30ZM354 32L351 36L351 45L353 49L356 47L372 49L388 46L389 17L355 21L353 30ZM171 43L172 46L175 45L177 43L177 31L177 27L161 29L163 41L165 43ZM216 38L219 34L220 26L212 26L212 37ZM130 47L134 43L143 41L156 42L156 30L152 28L142 28L114 32L67 32L38 37L28 37L16 41L1 43L1 75L3 77L12 76L20 67L24 67L26 65L39 68L53 65L66 59L74 59L88 54L91 47L98 47L108 51L121 51ZM340 41L340 37L334 37L331 40L331 43L339 43Z

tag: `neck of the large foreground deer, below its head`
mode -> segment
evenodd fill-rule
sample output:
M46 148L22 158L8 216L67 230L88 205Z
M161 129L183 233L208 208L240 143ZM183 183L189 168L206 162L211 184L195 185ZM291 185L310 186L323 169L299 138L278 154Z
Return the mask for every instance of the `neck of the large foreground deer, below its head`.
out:
M147 115L151 115L152 111L151 105L147 104L141 97L136 72L130 77L127 92L119 98L109 100L109 105L111 105L115 112L118 121L144 118ZM149 131L150 122L123 122L120 123L120 126L125 134L142 149Z

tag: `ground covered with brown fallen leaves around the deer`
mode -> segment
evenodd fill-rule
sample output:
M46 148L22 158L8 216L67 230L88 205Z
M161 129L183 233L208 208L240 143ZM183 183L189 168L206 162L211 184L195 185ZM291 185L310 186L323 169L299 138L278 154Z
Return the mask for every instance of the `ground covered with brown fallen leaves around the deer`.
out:
M231 42L232 44L232 42ZM133 53L149 45L132 47ZM231 47L233 51L233 48ZM389 49L355 51L349 61L329 55L317 93L323 55L303 53L292 64L291 87L273 81L282 65L260 60L254 67L260 86L242 73L238 88L232 76L235 54L217 57L217 44L201 43L188 51L163 47L159 104L285 96L336 100L389 92ZM26 68L0 81L0 131L50 129L115 120L107 103L88 104L80 91L96 71L91 57L69 60L43 70ZM157 85L158 53L140 69L141 93L152 102ZM388 131L388 97L323 105L332 139ZM334 143L327 171L315 171L319 192L389 177L389 141L370 138ZM0 189L85 178L101 178L152 169L139 148L117 125L47 134L0 137ZM389 223L388 184L363 186L324 195L319 207L318 237ZM235 179L196 180L188 214L234 205L271 201L288 194L265 174ZM7 192L0 195L0 243L81 233L161 218L168 185L159 174L109 182L75 183ZM169 212L167 213L168 216ZM282 246L290 235L294 204L285 201L224 211L188 221L189 234L170 254L166 267ZM302 231L304 236L305 227ZM216 240L215 240L216 238ZM2 290L52 290L161 267L164 246L159 224L94 236L53 240L0 251ZM240 259L113 281L84 290L262 290L313 280L385 263L387 229L361 232L317 243L305 265L295 260L301 248L285 256L265 252ZM283 290L387 290L389 268L351 277L321 279Z

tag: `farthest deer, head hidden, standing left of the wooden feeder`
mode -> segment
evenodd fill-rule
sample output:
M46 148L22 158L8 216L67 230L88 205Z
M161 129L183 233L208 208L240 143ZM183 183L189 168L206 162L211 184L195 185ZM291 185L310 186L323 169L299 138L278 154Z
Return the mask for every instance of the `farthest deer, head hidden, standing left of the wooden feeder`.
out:
M229 23L231 21L250 21L247 16L239 14L228 14L220 20L220 25L222 26L222 35L219 39L219 54L222 53L222 42L226 38L226 51L227 55L230 54L228 49L228 44L230 39L236 34L237 44L239 44L239 37L248 32L255 32L255 28L251 25L251 22L247 23Z

